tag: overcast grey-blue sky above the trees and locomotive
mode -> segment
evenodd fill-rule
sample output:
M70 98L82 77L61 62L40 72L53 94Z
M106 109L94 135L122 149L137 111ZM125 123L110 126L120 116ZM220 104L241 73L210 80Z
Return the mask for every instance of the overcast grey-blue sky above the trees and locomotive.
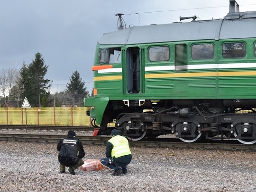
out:
M19 69L40 52L48 65L51 92L63 91L77 70L87 90L93 88L91 66L102 33L117 30L116 13L126 25L179 22L180 16L223 18L229 0L0 0L0 68ZM240 12L255 11L256 0L237 0ZM254 4L254 5L253 5ZM249 6L246 6L249 5ZM209 8L221 7L222 8ZM203 9L190 9L203 8ZM187 9L179 11L165 11ZM188 10L190 9L190 10ZM165 11L156 13L142 13ZM185 20L183 22L190 22Z

